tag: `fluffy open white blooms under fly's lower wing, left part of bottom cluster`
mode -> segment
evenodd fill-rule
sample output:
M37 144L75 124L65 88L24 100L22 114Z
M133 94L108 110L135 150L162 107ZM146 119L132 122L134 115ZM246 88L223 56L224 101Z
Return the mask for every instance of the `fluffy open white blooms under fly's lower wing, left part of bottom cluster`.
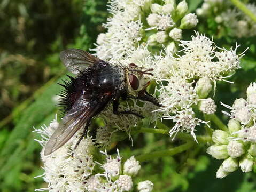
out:
M48 156L44 156L44 146L52 133L58 128L57 117L48 127L44 126L36 130L42 139L38 142L43 146L41 158L43 162L43 179L48 183L49 191L83 191L86 186L86 177L91 175L95 163L90 154L91 138L82 139L80 145L74 150L74 145L80 133L77 132L63 147ZM37 189L41 190L41 189Z

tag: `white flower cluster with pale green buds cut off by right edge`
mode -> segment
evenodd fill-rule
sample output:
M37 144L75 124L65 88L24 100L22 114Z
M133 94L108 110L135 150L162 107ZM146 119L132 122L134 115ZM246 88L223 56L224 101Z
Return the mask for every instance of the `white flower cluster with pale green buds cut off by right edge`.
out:
M247 100L237 99L231 109L228 131L215 130L212 135L213 146L207 153L216 159L225 159L217 171L217 177L226 177L241 168L243 172L252 171L256 161L256 83L247 88Z

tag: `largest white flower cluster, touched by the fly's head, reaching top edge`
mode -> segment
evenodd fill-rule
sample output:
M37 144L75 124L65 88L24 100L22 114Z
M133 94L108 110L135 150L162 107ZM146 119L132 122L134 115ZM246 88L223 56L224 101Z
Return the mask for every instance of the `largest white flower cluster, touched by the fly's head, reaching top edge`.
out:
M154 94L159 95L158 100L164 106L159 109L148 102L142 106L135 100L120 107L138 111L151 123L162 118L172 119L176 125L170 130L171 136L185 131L196 139L196 126L206 122L197 118L195 109L207 115L216 111L209 95L215 92L217 81L229 82L226 78L241 68L239 58L243 53L236 54L239 45L222 49L197 32L190 41L183 41L182 29L195 27L198 22L195 14L187 14L185 1L176 5L175 1L157 4L150 0L113 0L109 10L113 17L104 25L107 32L98 36L95 54L113 63L136 63L143 68L153 68L154 76L149 79L158 85ZM139 121L134 116L113 115L110 108L100 117L107 126L128 134ZM124 118L128 119L123 121Z

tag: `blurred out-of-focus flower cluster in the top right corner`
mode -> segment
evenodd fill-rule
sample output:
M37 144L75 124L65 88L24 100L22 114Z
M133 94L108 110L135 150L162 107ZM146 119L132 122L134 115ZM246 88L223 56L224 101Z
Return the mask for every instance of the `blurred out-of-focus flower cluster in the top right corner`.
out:
M253 13L256 12L255 4L247 4L246 7ZM231 36L242 38L256 35L255 22L242 11L235 9L229 1L204 0L196 13L199 17L214 17L218 30L223 31L228 28L227 32Z

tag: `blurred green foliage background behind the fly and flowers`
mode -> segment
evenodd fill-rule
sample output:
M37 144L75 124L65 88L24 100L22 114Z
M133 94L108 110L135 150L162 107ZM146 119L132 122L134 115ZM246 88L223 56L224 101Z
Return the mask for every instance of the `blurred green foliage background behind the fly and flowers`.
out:
M195 12L202 1L187 1ZM253 1L252 1L253 2ZM57 113L55 94L57 82L67 72L60 63L59 52L67 47L89 50L97 35L104 32L102 23L109 16L103 0L2 0L0 2L0 191L34 191L46 184L40 162L41 146L34 141L33 126L48 125ZM255 81L255 38L236 39L218 36L214 19L199 20L197 29L214 36L219 46L235 42L250 50L242 59L242 69L230 79L235 84L219 83L215 101L218 116L223 109L219 101L231 105L245 96L245 89ZM187 33L187 34L186 34ZM193 31L184 34L190 39ZM179 142L179 141L177 141ZM148 153L172 147L170 138L162 135L139 134L134 146L128 140L117 143L122 156ZM179 156L142 163L136 181L151 180L154 191L256 191L254 173L236 171L227 178L216 179L221 161L215 161L200 150ZM114 150L113 150L114 151Z

